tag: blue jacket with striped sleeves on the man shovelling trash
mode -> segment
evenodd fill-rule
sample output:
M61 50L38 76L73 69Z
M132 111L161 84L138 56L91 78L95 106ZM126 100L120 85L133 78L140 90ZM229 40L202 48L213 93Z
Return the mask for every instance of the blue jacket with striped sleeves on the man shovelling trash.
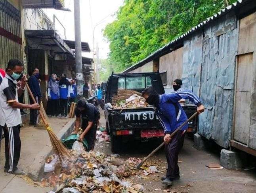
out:
M189 101L195 103L197 106L201 105L199 97L189 90L159 95L159 106L157 107L156 113L160 123L164 127L164 133L172 133L187 120L187 115L178 102L182 98L189 99ZM181 130L184 131L187 128L188 124L183 126Z

